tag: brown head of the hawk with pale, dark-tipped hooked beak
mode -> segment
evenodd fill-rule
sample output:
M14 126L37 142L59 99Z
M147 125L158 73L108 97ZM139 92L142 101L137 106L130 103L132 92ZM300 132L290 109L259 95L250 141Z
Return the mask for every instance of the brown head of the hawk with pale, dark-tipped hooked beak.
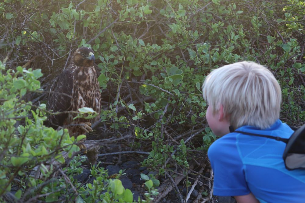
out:
M95 60L93 50L87 47L80 47L74 52L72 60L78 66L92 66Z

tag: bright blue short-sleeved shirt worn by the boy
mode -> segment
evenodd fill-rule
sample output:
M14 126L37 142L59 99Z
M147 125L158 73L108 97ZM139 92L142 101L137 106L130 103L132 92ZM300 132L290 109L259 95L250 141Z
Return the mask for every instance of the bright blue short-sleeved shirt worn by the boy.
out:
M238 131L289 138L293 131L282 121L260 130L242 126ZM229 133L210 146L214 173L213 194L239 196L250 192L262 203L305 202L305 170L287 170L282 158L286 144L270 138Z

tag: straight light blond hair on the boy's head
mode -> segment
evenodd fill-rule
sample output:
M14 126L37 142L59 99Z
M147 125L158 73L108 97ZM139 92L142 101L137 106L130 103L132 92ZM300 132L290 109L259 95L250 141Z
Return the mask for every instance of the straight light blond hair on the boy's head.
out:
M242 61L217 68L206 77L202 90L213 114L223 105L235 129L243 125L265 129L279 118L280 85L260 64Z

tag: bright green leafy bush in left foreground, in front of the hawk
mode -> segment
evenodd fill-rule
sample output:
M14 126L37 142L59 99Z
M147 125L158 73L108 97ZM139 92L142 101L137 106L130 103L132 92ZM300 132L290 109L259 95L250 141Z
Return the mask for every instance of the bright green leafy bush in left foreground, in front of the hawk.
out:
M41 168L41 180L48 180L55 167L46 168L52 161L64 163L61 153L69 155L79 150L74 137L67 130L55 131L43 125L46 106L33 105L25 101L27 94L40 90L41 70L18 66L8 69L0 62L0 198L15 187L20 189L15 198L20 199L24 191L37 186L35 177L29 172Z

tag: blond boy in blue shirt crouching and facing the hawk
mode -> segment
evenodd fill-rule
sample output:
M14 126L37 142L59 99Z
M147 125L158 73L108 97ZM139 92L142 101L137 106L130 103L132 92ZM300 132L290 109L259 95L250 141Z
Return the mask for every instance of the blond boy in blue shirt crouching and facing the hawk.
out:
M208 150L213 194L239 203L305 202L305 170L285 168L284 142L233 132L282 138L293 133L279 120L281 88L272 73L254 62L225 65L206 77L203 98L206 120L221 137Z

